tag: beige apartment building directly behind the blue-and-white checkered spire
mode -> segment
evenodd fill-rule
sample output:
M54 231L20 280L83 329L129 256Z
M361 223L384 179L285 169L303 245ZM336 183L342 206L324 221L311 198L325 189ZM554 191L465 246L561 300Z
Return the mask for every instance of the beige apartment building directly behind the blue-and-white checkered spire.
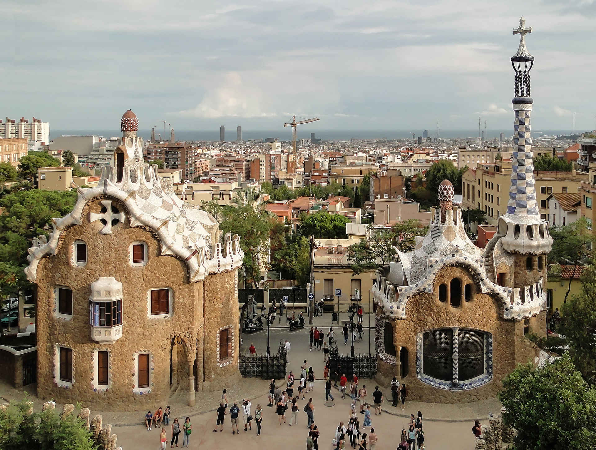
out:
M548 197L553 193L578 193L588 175L581 172L534 171L536 201L542 219L550 220ZM468 168L462 175L462 208L480 208L489 225L507 212L511 186L511 161Z

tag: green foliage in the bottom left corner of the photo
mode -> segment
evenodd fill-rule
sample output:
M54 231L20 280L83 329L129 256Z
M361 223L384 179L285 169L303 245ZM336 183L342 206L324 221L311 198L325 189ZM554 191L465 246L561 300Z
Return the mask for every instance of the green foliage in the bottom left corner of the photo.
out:
M55 411L32 412L26 402L0 410L2 450L103 450L76 415L58 417Z

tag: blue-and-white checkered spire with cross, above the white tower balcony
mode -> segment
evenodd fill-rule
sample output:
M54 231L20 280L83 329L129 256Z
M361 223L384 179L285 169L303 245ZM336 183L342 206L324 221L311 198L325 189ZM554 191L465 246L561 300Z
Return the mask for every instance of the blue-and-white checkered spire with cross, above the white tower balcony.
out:
M526 48L526 34L532 33L532 27L525 26L526 20L522 17L520 26L513 30L514 35L520 35L520 46L517 53L511 57L511 65L516 72L515 97L512 100L516 118L513 125L514 149L507 214L539 218L530 125L533 103L530 97L530 69L534 64L534 57Z

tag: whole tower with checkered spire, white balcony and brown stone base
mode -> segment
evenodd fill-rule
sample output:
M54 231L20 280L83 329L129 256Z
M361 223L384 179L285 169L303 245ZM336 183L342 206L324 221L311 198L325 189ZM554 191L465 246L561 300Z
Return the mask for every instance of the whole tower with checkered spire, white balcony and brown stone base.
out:
M530 115L530 69L534 57L527 51L525 36L532 27L525 27L526 20L520 19L520 26L513 34L520 35L517 53L511 57L515 70L515 97L512 100L515 112L513 134L513 161L511 167L511 187L507 214L499 217L498 236L502 236L503 249L514 255L513 280L514 296L522 304L539 295L536 283L544 291L546 283L546 255L551 251L552 238L548 233L548 221L541 219L536 202L534 186L534 165L532 161L532 137Z

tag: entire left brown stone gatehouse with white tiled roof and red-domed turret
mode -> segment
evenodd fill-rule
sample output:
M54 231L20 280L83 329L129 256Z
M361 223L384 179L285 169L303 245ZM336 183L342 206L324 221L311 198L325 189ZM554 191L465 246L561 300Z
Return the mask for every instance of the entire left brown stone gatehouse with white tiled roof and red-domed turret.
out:
M38 395L95 408L163 404L240 380L238 236L144 164L128 110L115 167L34 239Z

